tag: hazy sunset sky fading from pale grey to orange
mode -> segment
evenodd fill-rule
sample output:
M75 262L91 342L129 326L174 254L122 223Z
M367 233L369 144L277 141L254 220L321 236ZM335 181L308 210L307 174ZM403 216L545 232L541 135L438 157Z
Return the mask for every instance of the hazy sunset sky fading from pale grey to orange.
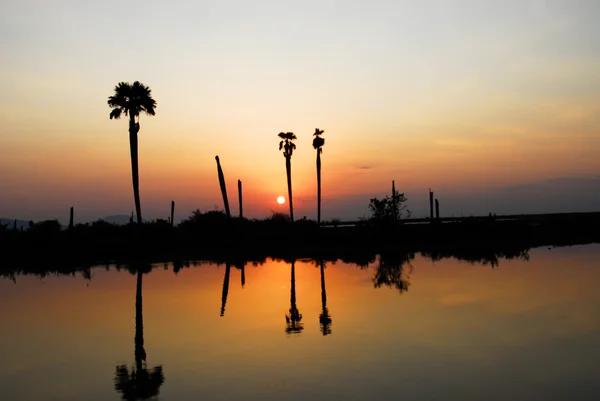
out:
M596 1L60 1L0 9L0 217L76 221L134 209L128 126L106 101L152 89L142 116L145 219L223 208L323 219L372 197L443 215L595 211L600 202Z

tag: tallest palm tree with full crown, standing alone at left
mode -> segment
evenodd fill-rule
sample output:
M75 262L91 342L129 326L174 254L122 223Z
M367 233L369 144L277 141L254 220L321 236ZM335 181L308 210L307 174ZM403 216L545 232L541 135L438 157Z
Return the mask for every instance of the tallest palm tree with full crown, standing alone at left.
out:
M150 88L135 81L119 82L115 86L115 94L109 96L108 105L113 110L110 112L110 119L119 119L121 114L129 116L129 148L131 152L131 177L133 180L133 198L135 201L135 211L137 213L137 222L142 224L142 207L140 205L140 182L138 174L138 147L137 134L140 130L140 113L146 113L153 116L156 102L150 95Z

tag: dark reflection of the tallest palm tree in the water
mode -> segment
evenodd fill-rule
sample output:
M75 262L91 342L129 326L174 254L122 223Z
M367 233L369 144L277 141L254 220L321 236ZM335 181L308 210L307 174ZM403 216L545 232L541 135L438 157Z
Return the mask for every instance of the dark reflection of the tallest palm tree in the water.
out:
M147 400L158 395L160 386L165 381L162 366L148 370L146 350L144 349L144 320L142 314L142 275L151 270L148 266L133 266L137 271L135 293L135 366L131 371L127 365L118 365L115 370L115 391L127 401Z

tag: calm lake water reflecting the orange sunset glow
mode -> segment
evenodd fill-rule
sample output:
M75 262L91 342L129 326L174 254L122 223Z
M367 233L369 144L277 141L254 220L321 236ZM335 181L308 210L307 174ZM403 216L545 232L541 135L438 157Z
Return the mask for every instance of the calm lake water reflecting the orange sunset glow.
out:
M528 256L0 279L0 400L600 399L600 245Z

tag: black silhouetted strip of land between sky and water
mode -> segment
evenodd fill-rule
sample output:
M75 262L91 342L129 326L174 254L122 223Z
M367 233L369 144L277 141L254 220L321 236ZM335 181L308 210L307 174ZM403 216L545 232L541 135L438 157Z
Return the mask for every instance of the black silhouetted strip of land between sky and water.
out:
M219 214L175 227L160 220L126 226L99 221L61 230L46 222L26 231L0 232L0 272L190 260L240 264L267 257L342 259L360 265L377 254L414 252L481 261L518 256L540 246L600 242L599 228L598 213L428 224L362 222L352 227L319 227L308 220L289 224L283 219L228 219Z

